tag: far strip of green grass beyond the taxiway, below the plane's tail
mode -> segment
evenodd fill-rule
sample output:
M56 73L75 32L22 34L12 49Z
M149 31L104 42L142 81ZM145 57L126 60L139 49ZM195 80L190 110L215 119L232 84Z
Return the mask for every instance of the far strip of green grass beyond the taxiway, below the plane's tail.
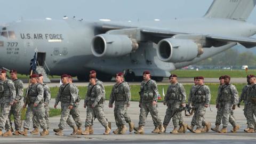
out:
M174 70L171 71L172 74L178 75L178 77L195 77L195 76L203 76L203 77L210 77L210 78L218 78L222 75L229 75L232 77L246 77L248 74L256 74L256 70L248 70L246 71L243 69L241 70Z

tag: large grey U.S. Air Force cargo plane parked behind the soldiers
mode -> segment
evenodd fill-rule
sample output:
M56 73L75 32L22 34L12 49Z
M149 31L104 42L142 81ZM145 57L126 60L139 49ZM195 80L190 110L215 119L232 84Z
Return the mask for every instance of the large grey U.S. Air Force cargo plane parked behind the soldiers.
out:
M141 81L144 70L162 81L170 71L209 58L238 43L256 46L256 26L246 22L256 0L214 0L197 19L113 22L21 20L1 26L0 66L28 74L37 65L49 75L68 73L88 80L90 70L109 81L125 71L126 81Z

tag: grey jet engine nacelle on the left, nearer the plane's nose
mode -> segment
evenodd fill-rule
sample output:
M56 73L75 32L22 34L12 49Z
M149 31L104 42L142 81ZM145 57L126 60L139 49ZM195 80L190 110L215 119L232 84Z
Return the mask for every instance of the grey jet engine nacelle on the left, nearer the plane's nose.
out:
M95 57L120 57L139 47L135 39L127 35L100 34L92 39L92 53Z

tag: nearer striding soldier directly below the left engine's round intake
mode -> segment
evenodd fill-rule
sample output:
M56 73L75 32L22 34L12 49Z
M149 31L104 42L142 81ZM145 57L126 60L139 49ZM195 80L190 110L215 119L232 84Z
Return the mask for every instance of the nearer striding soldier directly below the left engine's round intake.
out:
M84 100L84 108L87 107L86 110L86 120L85 120L85 131L82 132L83 135L88 135L89 133L89 127L92 123L92 119L94 115L97 117L98 121L105 127L105 135L109 134L111 129L108 126L108 121L103 113L103 101L102 97L102 87L96 83L96 77L95 75L90 75L90 83L91 87L87 91L86 98Z

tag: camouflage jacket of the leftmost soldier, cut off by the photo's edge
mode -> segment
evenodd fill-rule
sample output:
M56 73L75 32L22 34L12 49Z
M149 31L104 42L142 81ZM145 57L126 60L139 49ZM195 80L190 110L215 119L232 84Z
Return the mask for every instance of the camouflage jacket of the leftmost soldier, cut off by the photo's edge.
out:
M14 83L10 79L0 82L0 103L13 102L16 97Z

